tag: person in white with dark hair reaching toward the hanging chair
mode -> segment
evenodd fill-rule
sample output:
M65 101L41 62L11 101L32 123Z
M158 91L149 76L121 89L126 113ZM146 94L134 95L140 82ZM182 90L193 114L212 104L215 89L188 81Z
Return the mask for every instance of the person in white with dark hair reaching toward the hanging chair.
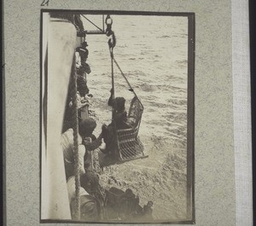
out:
M84 119L79 123L79 172L85 173L84 161L86 153L98 148L102 143L102 134L91 142L93 130L96 128L94 119ZM61 145L63 148L66 178L74 175L74 153L73 153L73 129L68 129L61 135Z

